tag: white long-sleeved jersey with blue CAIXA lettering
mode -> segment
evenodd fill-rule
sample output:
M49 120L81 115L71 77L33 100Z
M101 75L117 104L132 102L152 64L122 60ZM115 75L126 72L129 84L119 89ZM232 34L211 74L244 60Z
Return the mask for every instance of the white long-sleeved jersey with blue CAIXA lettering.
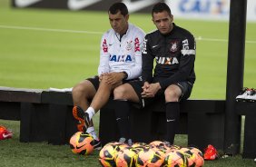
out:
M103 34L98 74L126 72L127 80L141 76L144 35L142 29L132 24L128 25L121 40L120 34L113 29Z

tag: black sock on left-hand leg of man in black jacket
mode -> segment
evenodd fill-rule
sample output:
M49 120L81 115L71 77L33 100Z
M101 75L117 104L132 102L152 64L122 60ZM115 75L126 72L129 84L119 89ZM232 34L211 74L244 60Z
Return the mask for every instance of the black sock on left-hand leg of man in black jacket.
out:
M126 140L131 139L130 136L130 104L128 101L114 100L114 112L116 123L118 125L120 137Z

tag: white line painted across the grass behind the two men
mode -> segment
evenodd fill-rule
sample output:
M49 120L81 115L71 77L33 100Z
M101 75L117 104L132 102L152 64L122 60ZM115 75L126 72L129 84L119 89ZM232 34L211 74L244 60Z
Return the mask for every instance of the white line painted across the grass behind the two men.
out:
M93 31L78 31L78 30L52 29L52 28L28 27L28 26L12 26L12 25L0 25L0 28L17 29L17 30L46 31L46 32L59 32L59 33L75 33L75 34L103 34L103 32L93 32ZM202 38L202 36L199 36L195 39L197 41L211 41L211 42L223 42L223 43L228 42L227 39ZM246 41L246 43L256 44L256 41Z

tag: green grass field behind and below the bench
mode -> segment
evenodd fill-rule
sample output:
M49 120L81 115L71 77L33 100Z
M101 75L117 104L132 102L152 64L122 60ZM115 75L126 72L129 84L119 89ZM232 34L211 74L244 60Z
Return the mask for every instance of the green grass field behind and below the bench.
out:
M72 87L97 73L100 39L110 28L106 12L15 9L0 1L0 86L42 88ZM175 15L174 15L175 16ZM132 14L130 22L146 33L155 27L151 15ZM194 99L225 99L228 22L175 20L197 39ZM244 86L255 87L256 24L247 24ZM68 145L19 141L19 122L0 120L13 129L12 140L0 142L0 166L99 166L98 152L82 157ZM203 136L202 136L203 137ZM185 144L185 136L175 142ZM241 155L205 166L253 166Z

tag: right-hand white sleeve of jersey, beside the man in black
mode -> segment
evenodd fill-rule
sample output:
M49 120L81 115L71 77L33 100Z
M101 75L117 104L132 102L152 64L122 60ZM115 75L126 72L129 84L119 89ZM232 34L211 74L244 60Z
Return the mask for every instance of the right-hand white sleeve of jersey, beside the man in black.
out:
M134 37L134 55L135 65L129 71L125 71L128 74L127 80L138 78L142 75L142 50L143 50L143 32L138 33Z

